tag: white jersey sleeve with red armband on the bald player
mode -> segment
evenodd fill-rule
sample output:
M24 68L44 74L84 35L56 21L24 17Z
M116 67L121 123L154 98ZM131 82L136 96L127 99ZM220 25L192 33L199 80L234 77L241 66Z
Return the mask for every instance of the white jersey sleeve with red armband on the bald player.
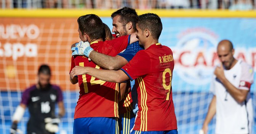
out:
M250 90L251 84L253 84L253 68L252 66L241 63L242 75L239 83L239 89Z

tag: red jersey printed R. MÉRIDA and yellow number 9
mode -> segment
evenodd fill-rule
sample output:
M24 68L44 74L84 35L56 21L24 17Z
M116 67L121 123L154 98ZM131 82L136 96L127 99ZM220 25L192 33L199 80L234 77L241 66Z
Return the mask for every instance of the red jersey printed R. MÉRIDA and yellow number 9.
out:
M140 50L123 66L127 76L136 79L139 111L134 130L177 129L171 88L173 68L173 52L160 43Z

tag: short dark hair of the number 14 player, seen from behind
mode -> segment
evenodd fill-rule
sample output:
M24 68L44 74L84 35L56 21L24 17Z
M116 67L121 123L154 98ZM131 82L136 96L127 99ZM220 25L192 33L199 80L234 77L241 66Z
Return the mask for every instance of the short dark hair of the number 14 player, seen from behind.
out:
M86 33L91 39L103 37L103 23L99 16L87 14L77 19L78 27L82 33Z

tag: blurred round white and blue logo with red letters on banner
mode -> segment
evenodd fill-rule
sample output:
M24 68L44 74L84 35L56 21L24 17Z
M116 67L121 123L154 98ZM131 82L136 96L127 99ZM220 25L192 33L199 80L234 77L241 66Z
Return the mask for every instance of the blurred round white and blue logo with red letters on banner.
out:
M174 70L190 84L208 84L218 63L217 36L205 28L188 29L181 35L173 49Z

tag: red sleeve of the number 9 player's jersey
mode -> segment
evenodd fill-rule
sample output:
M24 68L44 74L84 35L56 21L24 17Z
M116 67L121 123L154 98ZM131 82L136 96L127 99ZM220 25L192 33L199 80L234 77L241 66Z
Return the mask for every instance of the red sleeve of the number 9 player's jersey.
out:
M148 74L151 69L151 62L149 55L139 51L134 58L121 68L121 70L131 79L134 80L140 76Z

